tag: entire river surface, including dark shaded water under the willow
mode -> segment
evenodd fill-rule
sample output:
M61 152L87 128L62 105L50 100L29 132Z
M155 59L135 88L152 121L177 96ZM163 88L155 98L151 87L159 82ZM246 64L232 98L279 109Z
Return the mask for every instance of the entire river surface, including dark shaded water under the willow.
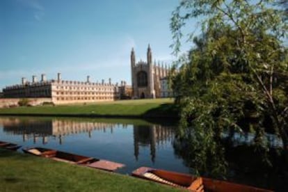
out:
M167 120L0 117L0 141L124 163L125 168L119 169L118 173L127 175L141 166L194 174L198 154L181 148L182 143L177 145L176 129L175 123ZM223 133L223 138L228 135ZM228 165L225 177L231 182L287 191L288 163L270 150L268 155L273 157L273 166L266 166L261 155L251 147L252 137L250 134L234 134L230 138L232 143L223 146ZM271 147L282 145L273 135L267 135L267 141ZM18 152L22 152L21 148ZM209 157L206 163L208 168L215 164L209 161ZM206 171L201 174L214 177L209 175L211 170Z

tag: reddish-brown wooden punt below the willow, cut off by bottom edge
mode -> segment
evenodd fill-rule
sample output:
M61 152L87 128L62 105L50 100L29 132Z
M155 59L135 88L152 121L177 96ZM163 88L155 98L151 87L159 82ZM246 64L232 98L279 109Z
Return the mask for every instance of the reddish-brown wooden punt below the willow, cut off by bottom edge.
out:
M216 179L209 179L205 177L195 177L183 173L176 173L167 170L160 170L154 168L141 167L134 170L132 176L141 179L159 182L161 184L168 184L189 191L249 191L249 192L268 192L266 189L259 189L253 186L246 186L242 184L235 184Z

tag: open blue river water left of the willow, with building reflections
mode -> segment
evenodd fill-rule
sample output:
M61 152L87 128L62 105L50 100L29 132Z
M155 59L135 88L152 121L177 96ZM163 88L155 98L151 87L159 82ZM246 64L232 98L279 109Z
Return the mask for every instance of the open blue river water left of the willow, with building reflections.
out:
M124 163L118 170L123 174L141 166L189 173L174 154L174 131L173 125L143 120L0 118L0 141Z

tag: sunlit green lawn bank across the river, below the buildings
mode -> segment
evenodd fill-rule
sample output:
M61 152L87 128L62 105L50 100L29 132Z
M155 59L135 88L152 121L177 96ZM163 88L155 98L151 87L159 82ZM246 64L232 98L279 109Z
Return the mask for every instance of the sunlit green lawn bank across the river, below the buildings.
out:
M0 109L0 115L104 118L179 118L173 99L137 99L61 106L22 106Z

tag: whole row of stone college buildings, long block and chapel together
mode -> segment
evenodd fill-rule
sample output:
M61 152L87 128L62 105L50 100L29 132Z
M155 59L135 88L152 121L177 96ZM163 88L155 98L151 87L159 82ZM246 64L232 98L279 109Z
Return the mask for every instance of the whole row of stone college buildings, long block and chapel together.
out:
M15 103L14 99L29 98L35 103L53 102L54 104L85 103L115 101L116 99L141 99L172 97L172 91L168 86L168 74L170 68L152 63L152 51L150 45L147 48L147 62L136 63L134 49L131 51L131 83L129 86L125 81L111 83L111 79L101 83L90 81L67 81L61 78L61 73L56 79L47 80L45 74L41 74L38 81L37 76L32 76L32 81L22 77L22 82L3 88L0 97L6 102ZM10 99L8 101L8 99ZM3 99L2 99L3 100ZM38 100L38 101L36 101ZM2 103L5 103L2 102ZM17 103L17 102L16 102Z

